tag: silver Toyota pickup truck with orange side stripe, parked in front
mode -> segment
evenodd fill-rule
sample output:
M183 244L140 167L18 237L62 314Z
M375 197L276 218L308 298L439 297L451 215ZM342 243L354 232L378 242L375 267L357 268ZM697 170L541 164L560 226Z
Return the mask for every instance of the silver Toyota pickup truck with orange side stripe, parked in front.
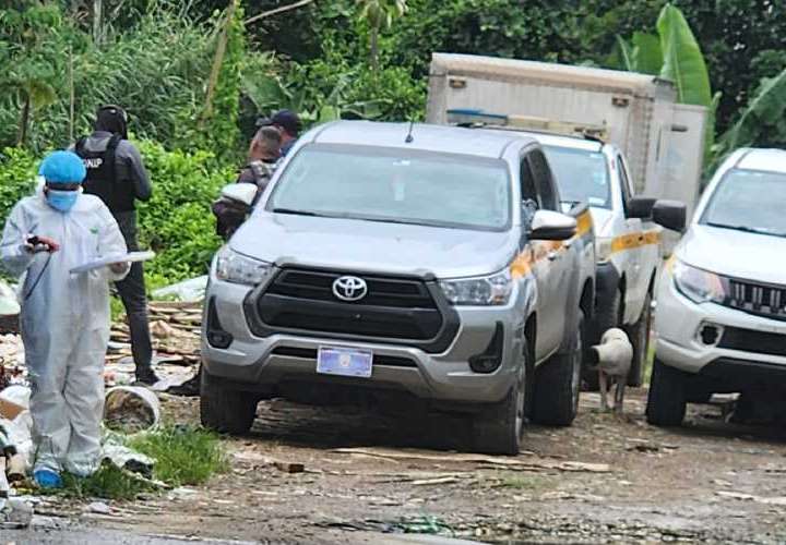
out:
M486 452L516 453L526 412L570 424L594 299L577 263L594 244L586 210L559 210L532 138L311 130L213 261L203 424L243 433L260 399L305 391L458 412Z

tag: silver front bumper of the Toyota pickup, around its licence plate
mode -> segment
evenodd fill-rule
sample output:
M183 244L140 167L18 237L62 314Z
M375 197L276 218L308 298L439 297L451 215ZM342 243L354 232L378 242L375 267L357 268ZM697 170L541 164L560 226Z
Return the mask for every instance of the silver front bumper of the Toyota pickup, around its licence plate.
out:
M203 364L211 377L229 382L238 389L274 395L283 383L318 383L403 390L427 400L488 403L508 393L521 362L525 325L521 308L525 305L515 298L508 306L456 308L460 325L452 342L442 352L429 353L414 346L346 340L315 332L272 331L255 336L245 310L250 293L248 287L212 279L206 294L221 328L233 340L228 348L218 349L207 342L203 330ZM489 346L498 324L503 331L501 364L492 373L475 373L468 361ZM323 346L371 350L376 356L372 376L318 374L315 354Z

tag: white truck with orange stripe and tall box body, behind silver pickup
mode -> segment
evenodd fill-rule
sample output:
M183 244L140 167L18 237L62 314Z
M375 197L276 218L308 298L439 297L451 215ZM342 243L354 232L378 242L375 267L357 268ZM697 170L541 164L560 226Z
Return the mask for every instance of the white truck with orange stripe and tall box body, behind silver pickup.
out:
M444 53L431 63L429 122L539 140L563 205L590 205L597 256L591 342L609 327L629 332L631 386L645 378L659 257L678 238L658 223L682 229L699 195L706 112L675 98L670 82L629 72ZM597 386L597 374L585 379Z

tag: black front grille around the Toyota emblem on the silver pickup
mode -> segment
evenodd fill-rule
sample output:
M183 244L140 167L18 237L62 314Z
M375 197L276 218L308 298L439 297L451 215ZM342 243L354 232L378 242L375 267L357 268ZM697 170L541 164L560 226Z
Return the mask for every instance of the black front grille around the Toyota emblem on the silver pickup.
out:
M333 282L344 272L283 269L257 300L262 322L276 329L353 338L426 341L443 317L426 283L413 278L356 275L368 286L360 301L341 301Z

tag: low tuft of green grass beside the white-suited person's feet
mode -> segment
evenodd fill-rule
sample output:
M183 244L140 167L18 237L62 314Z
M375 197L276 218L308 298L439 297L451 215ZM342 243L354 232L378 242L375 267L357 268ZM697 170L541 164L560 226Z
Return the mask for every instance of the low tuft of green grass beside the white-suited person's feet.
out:
M165 426L128 446L153 458L153 475L172 486L204 483L221 471L225 456L216 434L192 426Z

